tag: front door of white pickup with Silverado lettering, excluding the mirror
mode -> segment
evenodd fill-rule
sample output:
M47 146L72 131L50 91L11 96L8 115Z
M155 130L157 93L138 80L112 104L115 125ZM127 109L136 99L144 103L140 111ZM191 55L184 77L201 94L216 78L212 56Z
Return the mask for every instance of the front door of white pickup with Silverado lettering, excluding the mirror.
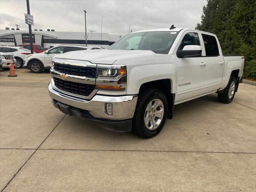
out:
M190 58L178 58L177 51L182 50L186 45L200 45L202 40L196 31L186 31L175 50L175 57L178 66L178 86L175 102L189 100L193 97L204 94L206 68L202 56Z

